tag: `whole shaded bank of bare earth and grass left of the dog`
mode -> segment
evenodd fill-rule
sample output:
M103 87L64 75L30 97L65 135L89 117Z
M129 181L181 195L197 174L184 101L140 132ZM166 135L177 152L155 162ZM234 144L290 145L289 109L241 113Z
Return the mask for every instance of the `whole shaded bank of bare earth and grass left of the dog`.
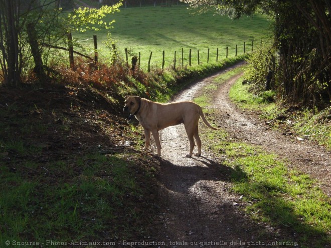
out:
M52 90L0 96L0 246L142 236L150 158L118 146L125 133L114 115Z

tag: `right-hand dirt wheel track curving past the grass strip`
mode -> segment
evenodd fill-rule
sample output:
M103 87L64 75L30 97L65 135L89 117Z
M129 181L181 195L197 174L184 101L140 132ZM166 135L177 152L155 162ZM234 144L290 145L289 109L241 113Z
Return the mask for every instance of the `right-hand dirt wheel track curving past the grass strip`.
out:
M322 146L299 141L295 136L285 136L271 130L254 112L238 110L229 100L231 85L238 75L219 88L216 95L219 124L236 140L262 147L289 161L289 166L297 168L317 179L320 188L331 196L331 153Z

